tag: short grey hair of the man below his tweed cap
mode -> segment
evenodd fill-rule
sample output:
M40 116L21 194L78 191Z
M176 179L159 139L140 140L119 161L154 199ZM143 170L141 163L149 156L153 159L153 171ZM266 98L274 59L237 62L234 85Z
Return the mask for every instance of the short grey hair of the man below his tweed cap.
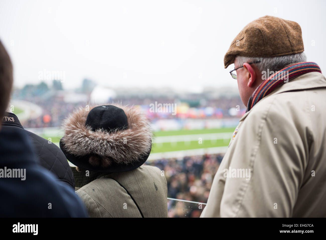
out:
M254 63L260 72L267 71L267 69L276 72L289 64L307 61L307 57L304 54L304 52L291 54L291 55L277 56L277 57L236 56L236 59L239 63L238 67L241 67L244 63L260 61L259 63Z

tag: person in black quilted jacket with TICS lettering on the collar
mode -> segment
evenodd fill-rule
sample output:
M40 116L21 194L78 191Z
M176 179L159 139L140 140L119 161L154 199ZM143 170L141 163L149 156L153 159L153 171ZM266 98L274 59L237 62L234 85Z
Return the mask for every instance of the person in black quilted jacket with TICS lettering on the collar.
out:
M32 144L35 155L38 158L38 163L52 172L60 181L67 183L75 189L74 176L67 158L57 145L25 130L18 117L14 113L7 112L2 120L2 128L6 129L9 126L19 128L19 130L26 132L29 137L29 142Z

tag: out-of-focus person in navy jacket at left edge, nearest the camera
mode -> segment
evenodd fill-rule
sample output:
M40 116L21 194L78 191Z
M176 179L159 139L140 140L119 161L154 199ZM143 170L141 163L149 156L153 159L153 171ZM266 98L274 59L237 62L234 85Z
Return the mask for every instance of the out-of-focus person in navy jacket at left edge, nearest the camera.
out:
M0 119L12 88L12 64L0 41ZM73 189L37 163L22 128L0 125L0 217L86 217Z

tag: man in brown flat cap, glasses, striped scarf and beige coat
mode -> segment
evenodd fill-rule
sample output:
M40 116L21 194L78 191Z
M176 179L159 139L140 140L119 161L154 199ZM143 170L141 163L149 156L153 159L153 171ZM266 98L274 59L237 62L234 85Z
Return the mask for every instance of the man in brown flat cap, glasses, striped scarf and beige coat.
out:
M230 64L247 111L201 217L326 217L326 79L306 61L299 24L250 22Z

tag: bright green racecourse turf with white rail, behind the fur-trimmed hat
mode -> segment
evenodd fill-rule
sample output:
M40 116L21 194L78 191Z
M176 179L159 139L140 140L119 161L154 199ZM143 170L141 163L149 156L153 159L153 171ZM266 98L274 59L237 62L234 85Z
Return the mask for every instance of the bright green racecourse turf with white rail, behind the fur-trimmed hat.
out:
M213 128L154 132L152 153L228 146L233 131L234 128ZM223 133L225 136L218 137L220 136L218 134ZM52 143L56 144L61 138L56 136L42 137L47 140L51 138Z

